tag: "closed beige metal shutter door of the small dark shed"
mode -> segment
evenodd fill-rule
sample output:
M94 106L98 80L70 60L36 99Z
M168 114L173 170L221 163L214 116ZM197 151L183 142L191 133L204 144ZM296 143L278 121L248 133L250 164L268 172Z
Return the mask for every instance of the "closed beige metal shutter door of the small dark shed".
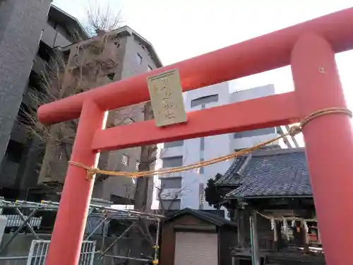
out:
M217 233L177 232L174 265L217 265Z

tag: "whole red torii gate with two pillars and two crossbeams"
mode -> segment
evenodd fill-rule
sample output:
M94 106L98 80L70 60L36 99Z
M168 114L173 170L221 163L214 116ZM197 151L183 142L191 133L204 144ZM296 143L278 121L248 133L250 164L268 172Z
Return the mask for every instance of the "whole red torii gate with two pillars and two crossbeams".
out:
M353 8L43 105L38 115L44 124L80 118L71 160L94 167L99 151L292 124L316 110L346 107L335 53L348 49L353 49ZM191 112L186 124L166 128L148 121L104 129L107 110L149 100L148 76L179 69L188 91L289 64L294 92ZM349 117L319 117L303 134L325 259L328 265L353 264ZM68 165L47 265L78 264L94 184L86 175Z

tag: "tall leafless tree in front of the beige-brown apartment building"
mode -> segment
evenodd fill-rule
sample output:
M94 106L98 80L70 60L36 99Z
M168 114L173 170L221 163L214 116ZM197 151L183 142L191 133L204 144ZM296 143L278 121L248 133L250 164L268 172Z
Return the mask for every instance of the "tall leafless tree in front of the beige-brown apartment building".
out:
M51 58L40 74L40 89L30 92L32 107L22 110L25 112L30 133L36 143L45 149L39 182L55 184L57 192L64 181L78 120L46 126L37 119L37 107L113 81L112 73L119 67L123 52L119 45L120 36L114 31L105 31L116 28L119 23L119 13L112 18L112 13L109 12L109 6L105 13L101 12L98 5L96 8L90 6L90 28L101 28L103 31L89 40L77 42L70 50L58 49L50 54ZM141 106L135 105L109 112L107 127L135 122L133 117L140 111ZM109 153L102 153L100 167L106 168L107 164L101 162L107 160L108 155ZM102 180L104 176L97 176L96 179Z

